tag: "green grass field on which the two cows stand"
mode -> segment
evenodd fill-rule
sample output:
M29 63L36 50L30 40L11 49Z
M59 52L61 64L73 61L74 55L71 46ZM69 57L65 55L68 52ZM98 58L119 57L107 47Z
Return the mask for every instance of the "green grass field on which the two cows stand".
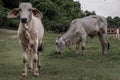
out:
M0 32L0 80L120 80L120 41L110 38L109 56L101 54L98 38L87 40L85 55L65 49L62 55L53 54L58 34L45 33L39 77L33 73L23 78L21 48L12 34ZM73 47L74 49L74 47Z

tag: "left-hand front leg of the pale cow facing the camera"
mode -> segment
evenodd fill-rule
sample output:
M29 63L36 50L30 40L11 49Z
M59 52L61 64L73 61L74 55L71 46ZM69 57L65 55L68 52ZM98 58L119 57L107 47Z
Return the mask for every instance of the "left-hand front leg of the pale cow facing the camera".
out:
M26 51L23 51L22 53L22 57L23 57L23 76L27 76L27 53Z

